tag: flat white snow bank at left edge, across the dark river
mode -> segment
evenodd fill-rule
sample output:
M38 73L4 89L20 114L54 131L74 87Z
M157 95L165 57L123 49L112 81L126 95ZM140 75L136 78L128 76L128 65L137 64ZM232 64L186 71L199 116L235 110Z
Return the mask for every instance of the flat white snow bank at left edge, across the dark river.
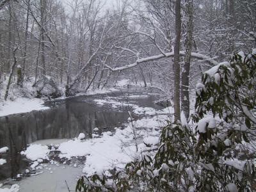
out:
M0 116L12 115L17 113L27 113L33 110L49 109L44 106L44 101L40 99L17 98L13 101L8 100L0 106Z

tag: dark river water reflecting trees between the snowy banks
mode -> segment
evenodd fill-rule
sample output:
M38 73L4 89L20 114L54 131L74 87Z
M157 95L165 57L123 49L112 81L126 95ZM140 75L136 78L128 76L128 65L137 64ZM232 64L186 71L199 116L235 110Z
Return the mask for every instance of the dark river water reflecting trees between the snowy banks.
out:
M99 130L113 131L114 127L122 126L129 117L127 107L113 109L108 104L99 106L93 100L116 97L115 100L127 102L127 97L124 95L128 94L147 93L133 91L72 97L45 102L45 106L51 109L44 111L0 117L0 148L7 146L10 150L7 154L0 154L0 158L7 159L7 163L0 166L0 180L15 177L29 166L29 161L20 156L20 151L29 143L38 140L74 138L80 132L91 138L95 127L99 127ZM154 104L154 100L157 99L156 95L148 95L148 97L132 97L128 102L141 107L161 109Z

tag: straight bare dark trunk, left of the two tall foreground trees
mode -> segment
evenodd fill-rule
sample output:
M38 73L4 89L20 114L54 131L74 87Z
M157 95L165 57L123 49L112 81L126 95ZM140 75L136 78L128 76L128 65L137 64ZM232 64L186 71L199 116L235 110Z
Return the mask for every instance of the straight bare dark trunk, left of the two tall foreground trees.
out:
M175 42L174 42L174 121L180 120L180 0L175 1Z

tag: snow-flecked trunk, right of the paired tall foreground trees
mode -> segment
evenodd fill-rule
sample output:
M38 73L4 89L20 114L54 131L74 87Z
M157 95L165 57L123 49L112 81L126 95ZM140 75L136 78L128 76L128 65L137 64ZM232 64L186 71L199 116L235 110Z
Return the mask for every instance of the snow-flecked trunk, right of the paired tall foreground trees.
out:
M181 77L181 109L184 115L188 119L189 117L189 71L191 52L193 47L193 0L187 0L186 13L188 17L187 21L187 36L185 40L185 62L182 68Z

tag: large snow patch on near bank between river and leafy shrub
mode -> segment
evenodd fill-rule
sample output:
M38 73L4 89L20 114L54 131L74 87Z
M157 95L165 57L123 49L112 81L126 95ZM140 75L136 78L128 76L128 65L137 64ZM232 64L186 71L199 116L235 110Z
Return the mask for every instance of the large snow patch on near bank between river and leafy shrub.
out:
M159 129L166 124L166 115L145 117L134 122L129 122L125 129L116 129L116 132L103 132L102 137L90 140L70 140L61 143L60 158L70 159L72 157L86 156L83 172L86 175L102 173L111 168L124 168L125 164L136 156L134 146L133 129L138 137L150 145L159 143ZM145 128L145 129L143 129ZM151 131L148 131L151 130ZM124 145L124 143L126 143ZM138 143L139 151L146 147L144 143Z

